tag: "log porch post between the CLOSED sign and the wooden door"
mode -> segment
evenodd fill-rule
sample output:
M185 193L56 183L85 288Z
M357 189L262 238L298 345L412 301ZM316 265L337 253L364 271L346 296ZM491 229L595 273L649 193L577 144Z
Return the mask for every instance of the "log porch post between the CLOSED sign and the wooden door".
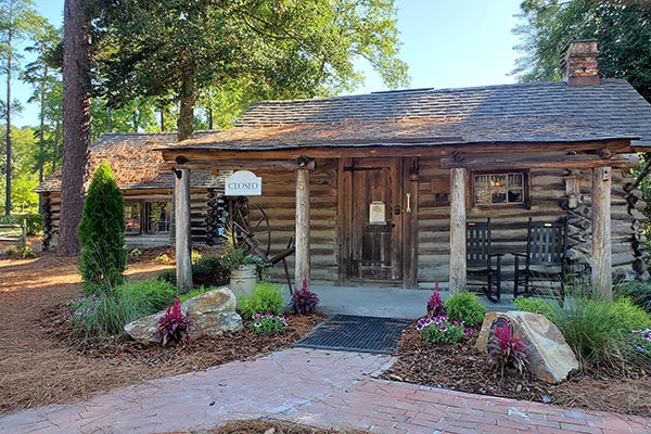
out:
M309 169L296 169L296 254L294 279L296 288L303 280L309 285Z

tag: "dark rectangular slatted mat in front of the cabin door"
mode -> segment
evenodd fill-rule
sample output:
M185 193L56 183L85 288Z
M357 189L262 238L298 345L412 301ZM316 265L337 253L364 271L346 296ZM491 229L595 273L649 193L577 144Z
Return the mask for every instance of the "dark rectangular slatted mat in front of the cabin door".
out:
M334 315L306 334L294 346L304 348L395 353L409 319Z

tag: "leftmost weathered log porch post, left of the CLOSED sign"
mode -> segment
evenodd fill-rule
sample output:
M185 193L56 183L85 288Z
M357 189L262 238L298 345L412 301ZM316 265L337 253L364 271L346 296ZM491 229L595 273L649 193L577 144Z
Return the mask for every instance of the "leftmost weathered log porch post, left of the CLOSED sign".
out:
M174 169L174 174L177 288L184 294L192 289L190 170Z

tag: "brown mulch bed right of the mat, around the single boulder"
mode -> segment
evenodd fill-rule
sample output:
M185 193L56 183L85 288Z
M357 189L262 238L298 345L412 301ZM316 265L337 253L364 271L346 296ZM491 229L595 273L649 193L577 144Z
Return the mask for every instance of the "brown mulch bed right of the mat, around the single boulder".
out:
M482 395L551 401L563 407L651 416L651 372L627 367L628 372L600 368L574 373L551 385L533 375L506 373L501 379L474 345L475 336L460 344L432 344L413 326L400 341L397 361L383 373L393 381L424 384Z

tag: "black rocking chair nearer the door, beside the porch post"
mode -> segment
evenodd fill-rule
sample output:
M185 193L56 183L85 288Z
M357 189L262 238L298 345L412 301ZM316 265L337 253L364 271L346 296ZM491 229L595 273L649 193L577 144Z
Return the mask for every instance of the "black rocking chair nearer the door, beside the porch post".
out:
M486 285L483 290L486 298L499 303L502 254L493 253L490 248L490 218L486 221L468 221L465 225L467 273L485 277Z

